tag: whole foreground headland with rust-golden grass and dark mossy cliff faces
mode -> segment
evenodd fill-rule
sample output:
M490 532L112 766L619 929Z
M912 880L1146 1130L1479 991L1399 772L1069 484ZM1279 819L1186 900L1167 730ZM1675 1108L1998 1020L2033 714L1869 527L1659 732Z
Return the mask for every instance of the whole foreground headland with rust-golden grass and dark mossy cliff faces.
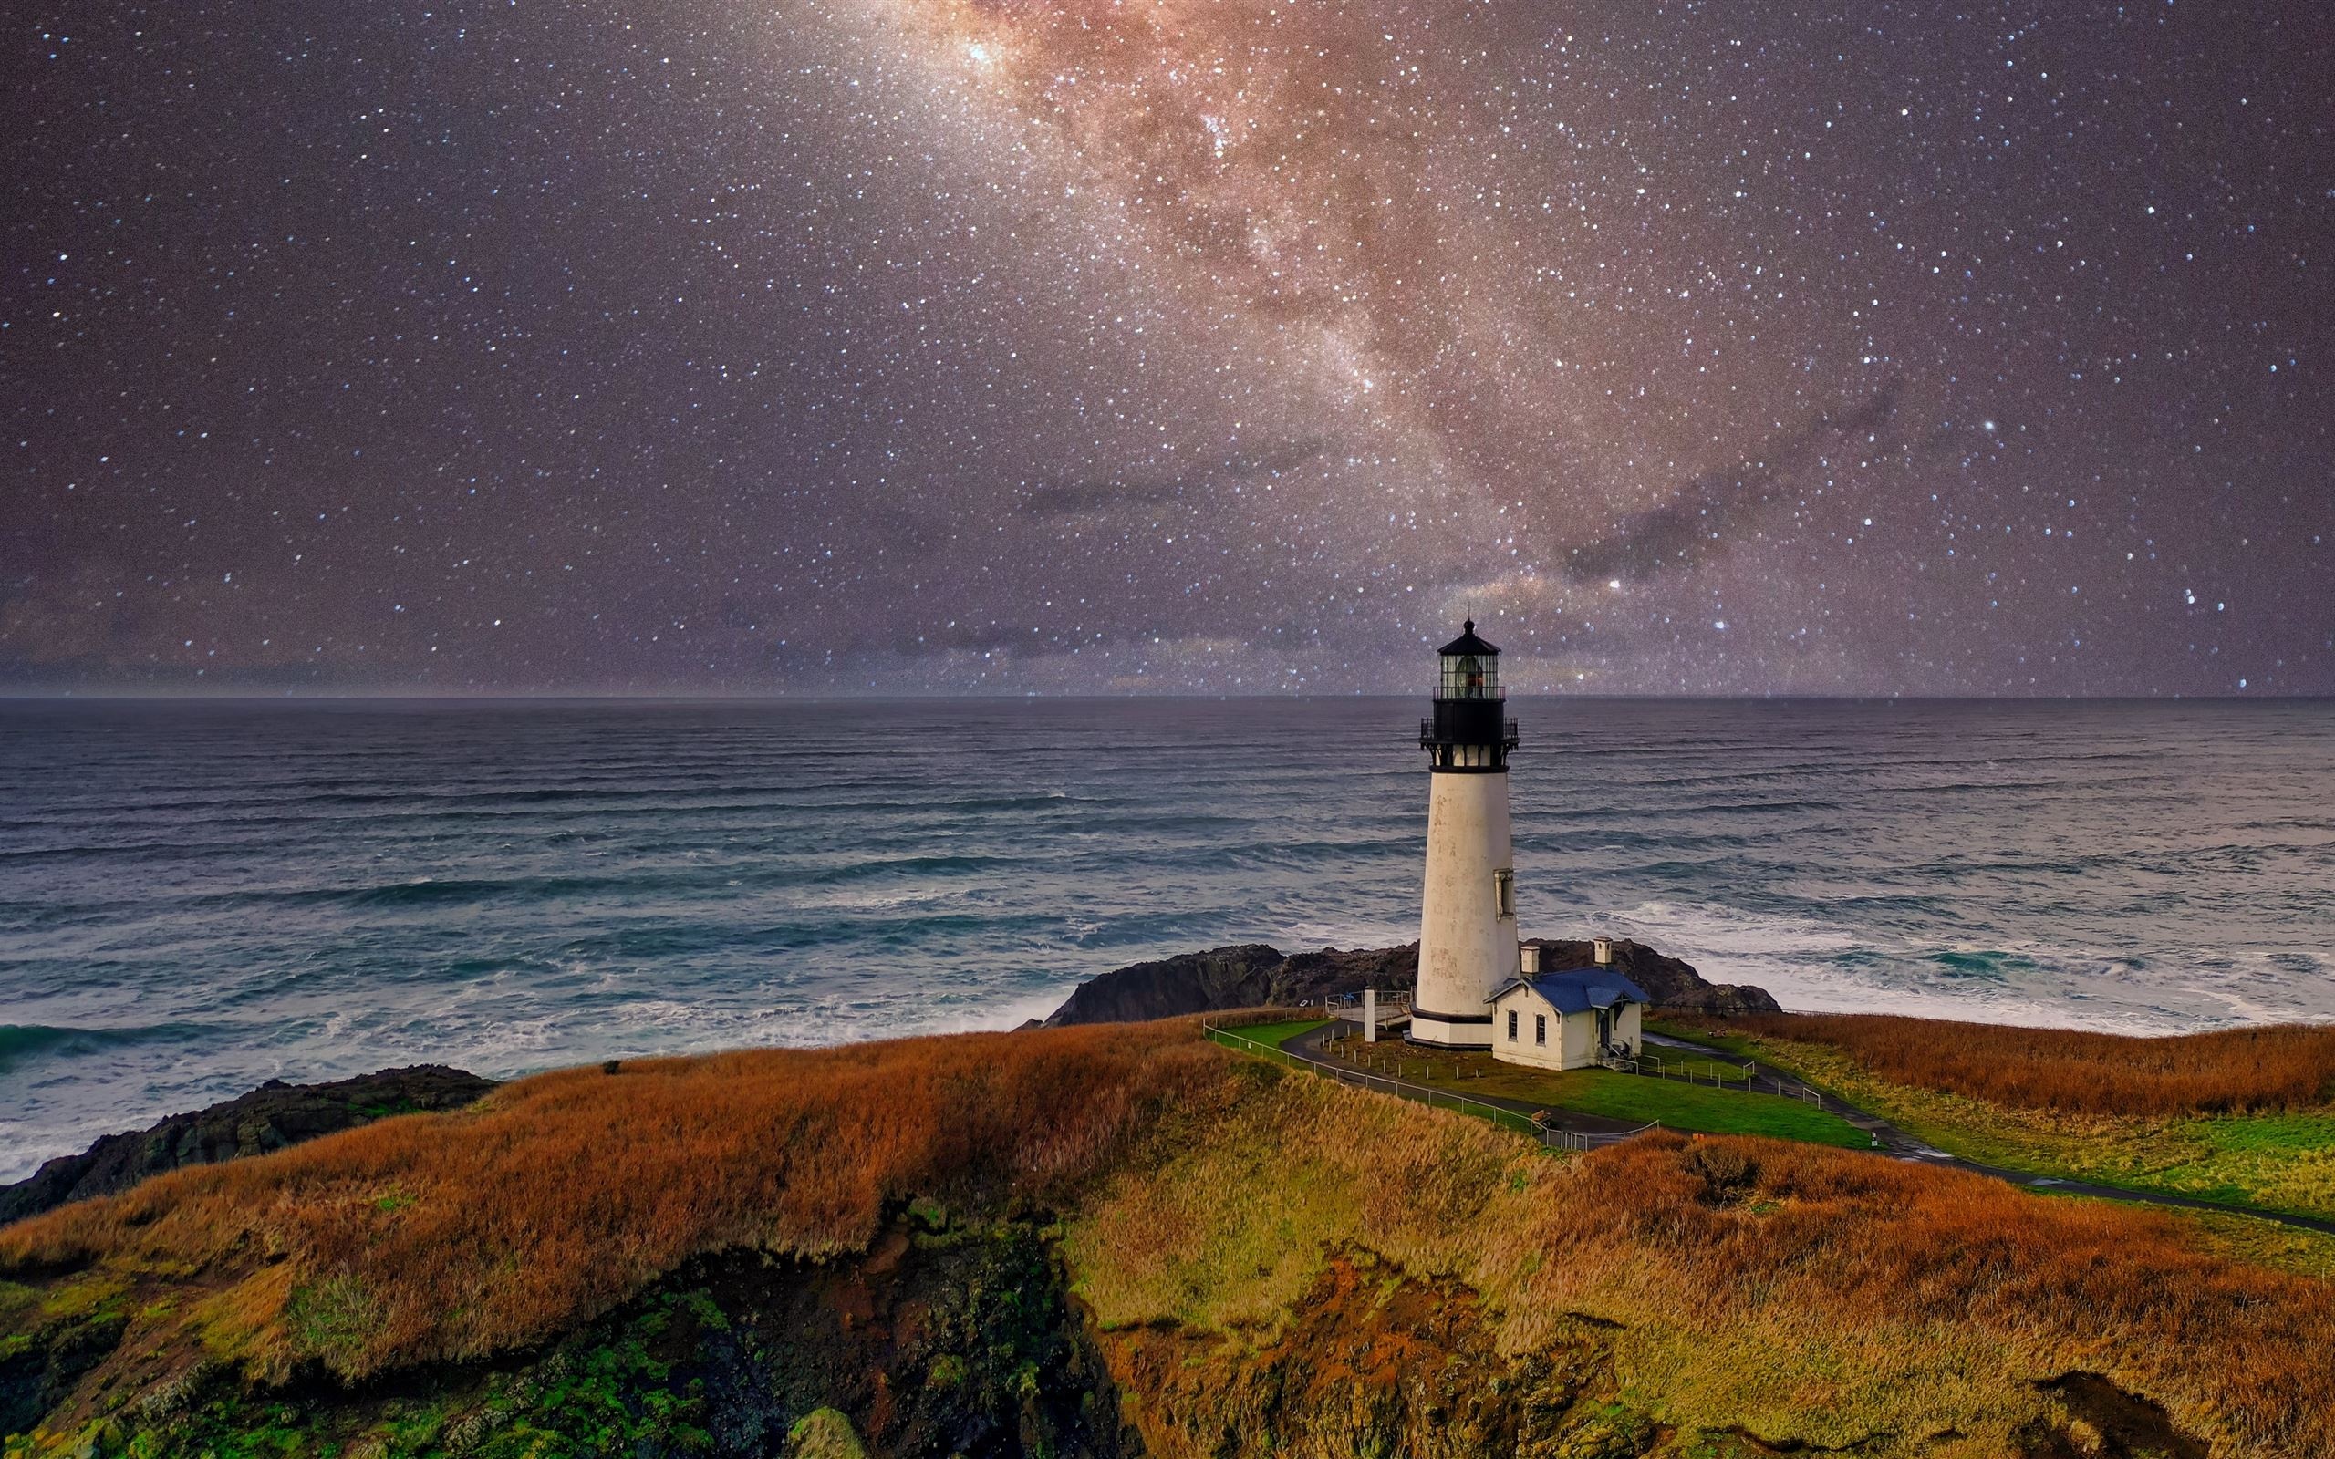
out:
M2335 1286L2174 1219L1770 1139L1553 1156L1191 1020L546 1074L0 1230L0 1279L7 1391L49 1384L12 1457L764 1452L736 1384L878 1454L1121 1452L1114 1403L1242 1459L2335 1452Z

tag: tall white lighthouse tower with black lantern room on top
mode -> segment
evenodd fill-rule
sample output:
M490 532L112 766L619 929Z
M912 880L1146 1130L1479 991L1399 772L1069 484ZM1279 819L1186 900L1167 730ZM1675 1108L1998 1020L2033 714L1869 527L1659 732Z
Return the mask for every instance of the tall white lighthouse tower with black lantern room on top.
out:
M1434 719L1420 749L1427 791L1427 896L1410 1041L1490 1048L1490 999L1515 978L1515 857L1508 850L1508 752L1515 721L1499 686L1499 649L1469 619L1443 644Z

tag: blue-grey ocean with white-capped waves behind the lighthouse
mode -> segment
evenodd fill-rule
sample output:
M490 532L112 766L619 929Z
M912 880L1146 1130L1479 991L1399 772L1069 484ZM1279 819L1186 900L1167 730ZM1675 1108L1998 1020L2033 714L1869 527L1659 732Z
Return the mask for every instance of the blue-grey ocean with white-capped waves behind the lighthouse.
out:
M1417 936L1424 700L0 703L0 1179L411 1062L1011 1027ZM1532 936L1789 1008L2335 1018L2335 705L1513 700Z

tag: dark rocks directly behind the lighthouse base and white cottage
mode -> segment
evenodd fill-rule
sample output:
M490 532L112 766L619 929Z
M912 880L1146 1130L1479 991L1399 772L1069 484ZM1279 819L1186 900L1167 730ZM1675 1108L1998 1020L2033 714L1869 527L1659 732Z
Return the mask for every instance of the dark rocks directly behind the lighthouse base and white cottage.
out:
M1588 941L1529 938L1541 948L1548 971L1588 966ZM1644 987L1656 1004L1698 1013L1777 1013L1761 987L1705 983L1693 964L1665 957L1644 943L1616 941L1613 966ZM1417 980L1420 945L1368 948L1340 952L1282 955L1266 943L1179 952L1158 962L1137 962L1072 990L1069 999L1046 1020L1065 1022L1139 1022L1184 1013L1224 1008L1268 1008L1317 1004L1329 994L1364 987L1408 990Z

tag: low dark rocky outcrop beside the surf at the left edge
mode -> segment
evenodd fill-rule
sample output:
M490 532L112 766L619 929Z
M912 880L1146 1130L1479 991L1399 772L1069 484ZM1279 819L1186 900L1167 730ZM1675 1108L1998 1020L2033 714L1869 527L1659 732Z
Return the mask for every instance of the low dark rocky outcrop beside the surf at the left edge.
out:
M128 1191L166 1170L264 1156L390 1114L460 1109L490 1088L493 1078L446 1064L381 1069L332 1083L271 1078L250 1095L194 1114L173 1114L149 1130L107 1135L79 1156L58 1156L30 1179L0 1186L0 1226L70 1200Z

